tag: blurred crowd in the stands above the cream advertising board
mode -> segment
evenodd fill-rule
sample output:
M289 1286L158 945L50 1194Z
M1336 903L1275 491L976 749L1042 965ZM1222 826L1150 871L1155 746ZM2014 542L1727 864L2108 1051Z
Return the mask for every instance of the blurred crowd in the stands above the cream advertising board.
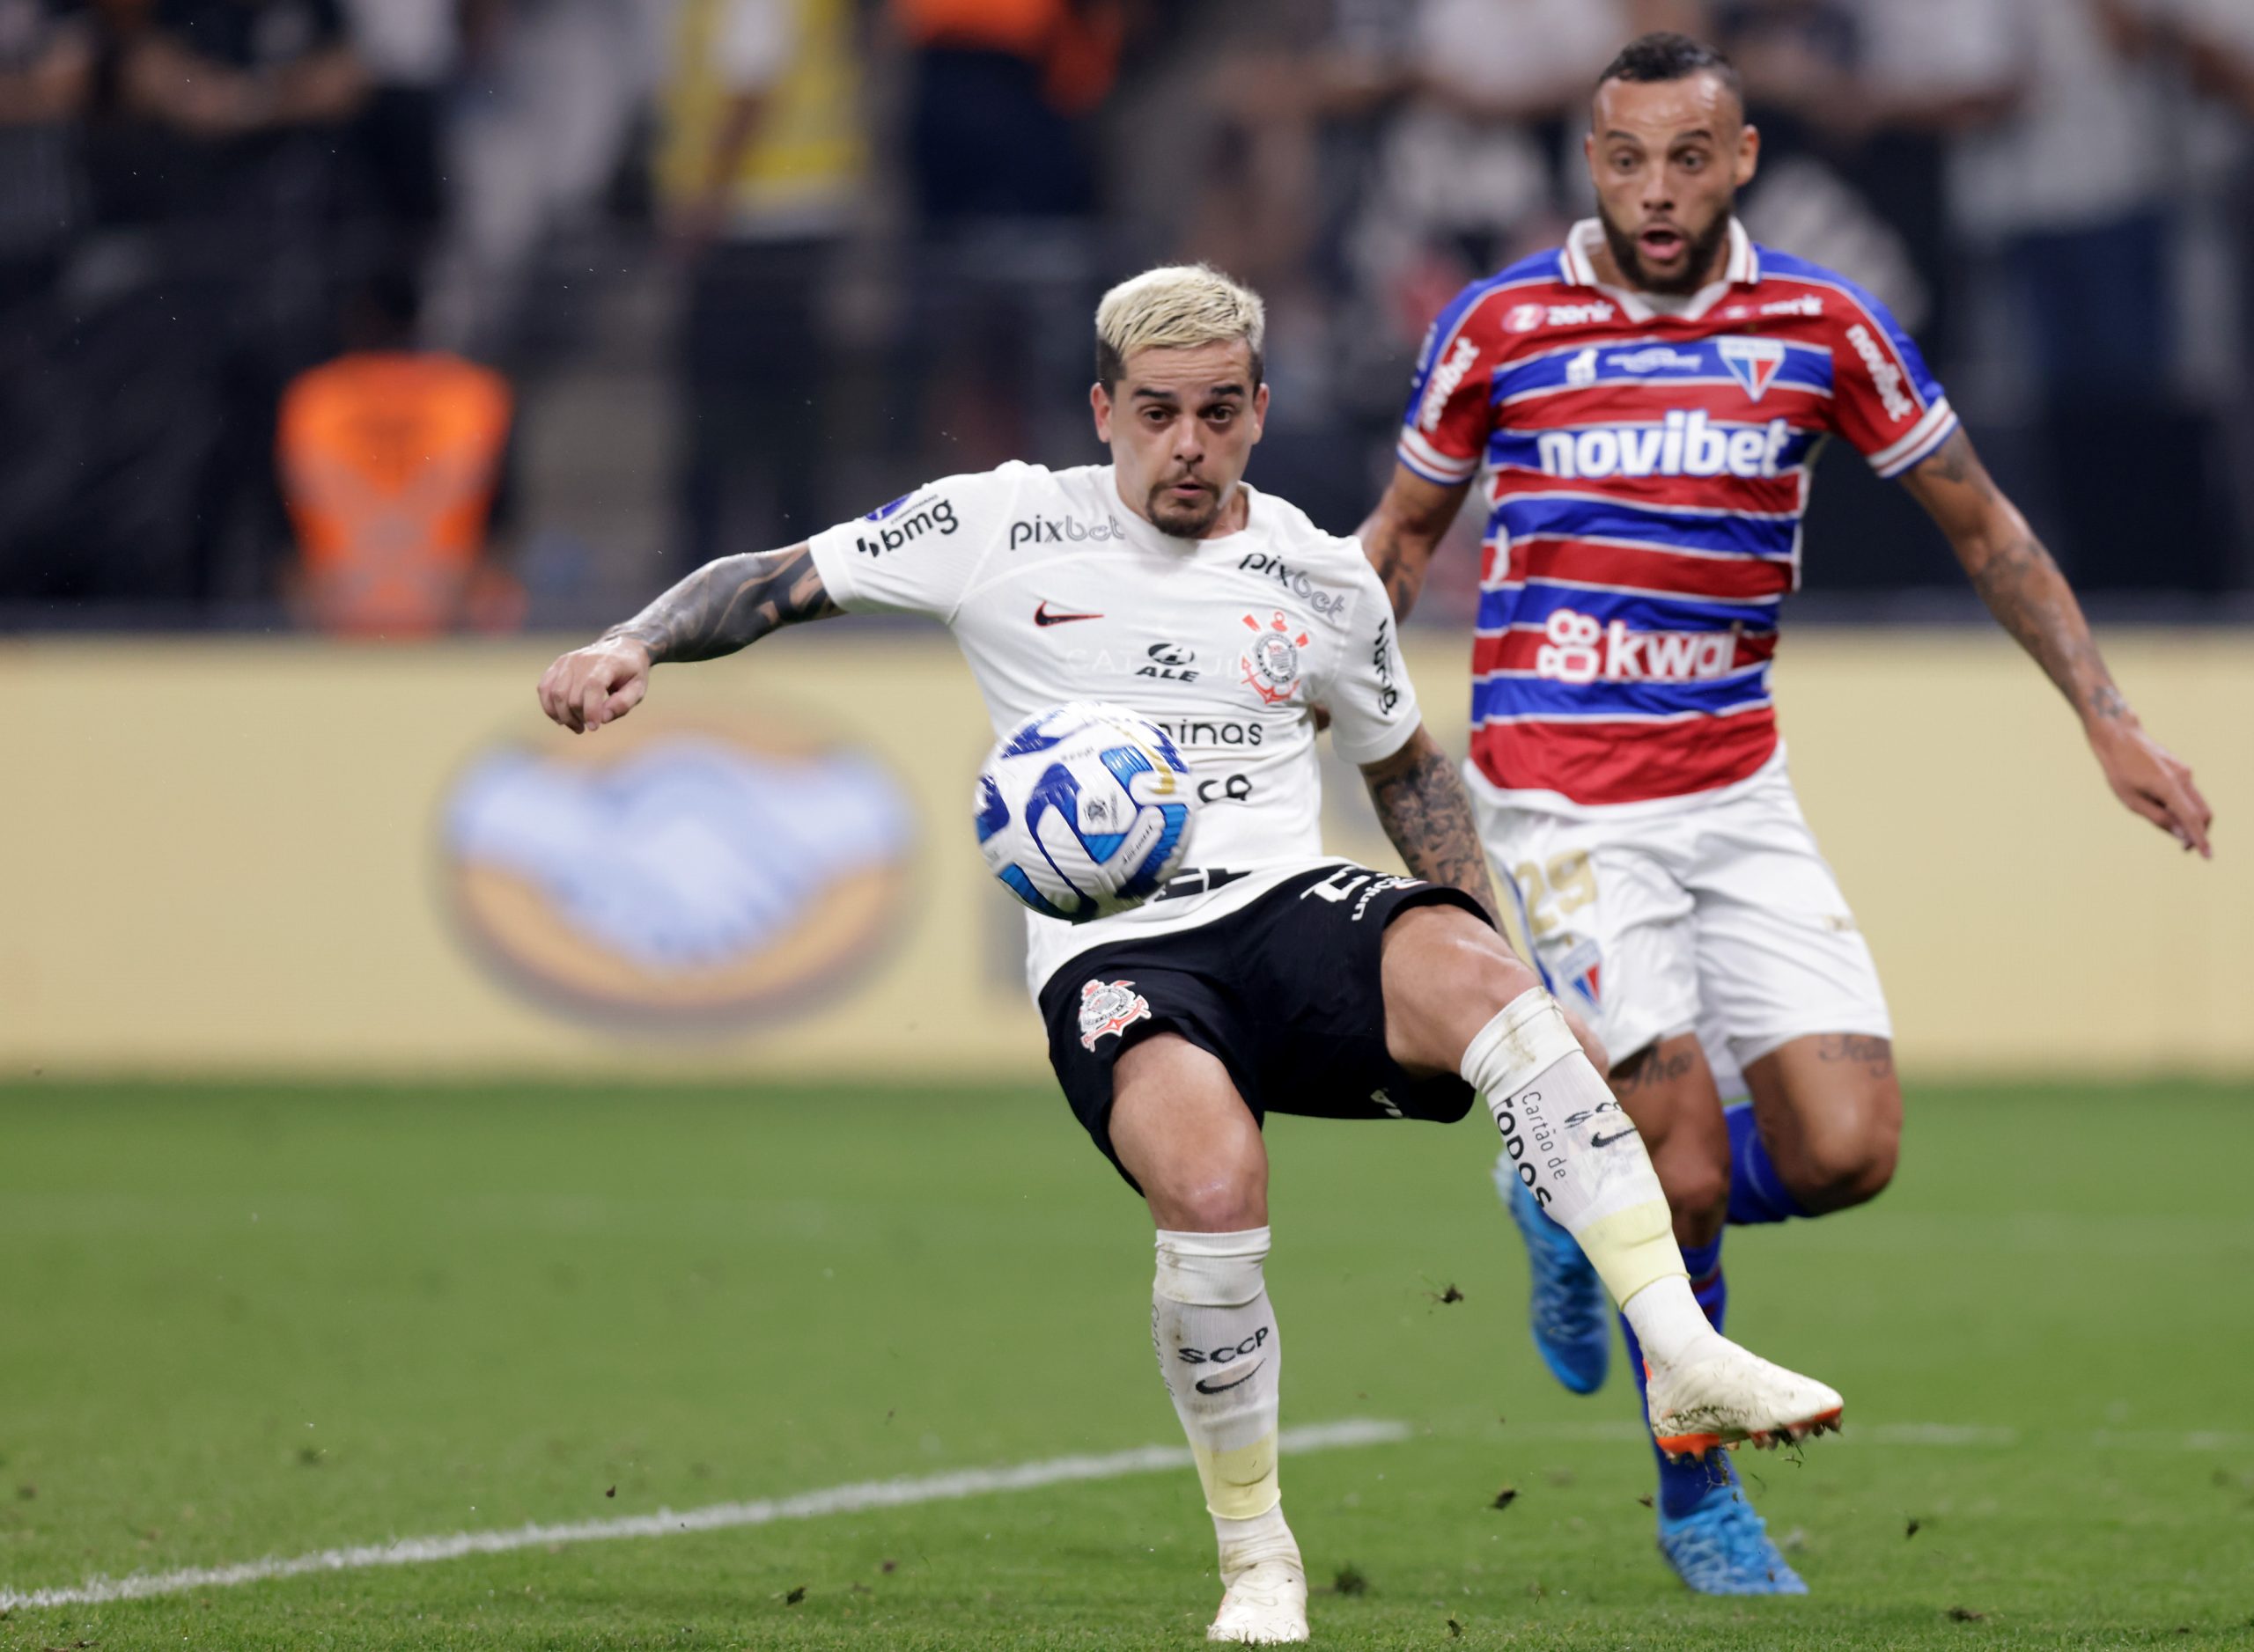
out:
M0 624L615 618L1091 458L1093 300L1165 257L1267 295L1255 480L1350 530L1650 27L2078 584L2254 586L2254 0L0 0ZM1826 464L1812 588L1950 579Z

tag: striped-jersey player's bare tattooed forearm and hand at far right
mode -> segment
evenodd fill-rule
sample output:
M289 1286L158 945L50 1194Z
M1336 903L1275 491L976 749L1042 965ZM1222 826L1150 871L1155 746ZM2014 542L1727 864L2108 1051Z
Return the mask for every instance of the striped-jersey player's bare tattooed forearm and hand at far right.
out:
M1988 613L2035 656L2083 719L2114 796L2186 850L2211 854L2207 827L2216 816L2191 782L2191 769L2144 732L2105 669L2074 588L1988 476L1972 439L1956 430L1902 482L1950 536Z

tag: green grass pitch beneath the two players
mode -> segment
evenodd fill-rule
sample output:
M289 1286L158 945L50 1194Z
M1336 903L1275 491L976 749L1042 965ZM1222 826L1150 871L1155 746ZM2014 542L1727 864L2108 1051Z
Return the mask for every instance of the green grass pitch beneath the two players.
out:
M1632 1391L1526 1348L1481 1129L1271 1143L1285 1420L1416 1429L1285 1465L1314 1580L1368 1582L1321 1643L2254 1645L2254 1091L1918 1091L1878 1206L1736 1235L1733 1332L1851 1418L1745 1458L1814 1596L1736 1605L1652 1553ZM1048 1093L0 1089L0 1587L1168 1442L1147 1314ZM1188 1647L1210 1566L1183 1469L0 1647Z

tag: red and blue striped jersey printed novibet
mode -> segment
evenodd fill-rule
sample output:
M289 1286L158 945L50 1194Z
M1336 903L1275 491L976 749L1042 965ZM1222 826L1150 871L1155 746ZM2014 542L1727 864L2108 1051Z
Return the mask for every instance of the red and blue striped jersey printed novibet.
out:
M1425 338L1400 462L1485 496L1472 762L1519 802L1751 778L1817 451L1837 433L1900 476L1956 428L1875 297L1729 237L1724 279L1672 307L1598 286L1589 219Z

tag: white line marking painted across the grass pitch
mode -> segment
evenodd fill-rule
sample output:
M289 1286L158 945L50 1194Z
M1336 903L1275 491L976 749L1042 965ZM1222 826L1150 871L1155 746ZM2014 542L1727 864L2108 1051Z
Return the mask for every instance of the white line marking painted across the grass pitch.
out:
M1285 1429L1285 1451L1337 1451L1352 1445L1393 1445L1409 1438L1406 1422L1348 1418ZM358 1548L322 1548L316 1555L289 1560L268 1555L239 1566L192 1566L185 1571L135 1571L126 1578L88 1578L77 1589L0 1589L0 1611L18 1607L99 1607L110 1600L147 1600L189 1589L228 1589L268 1578L302 1578L309 1571L361 1571L365 1566L421 1566L462 1555L505 1555L512 1548L545 1548L550 1544L606 1544L620 1537L674 1537L676 1533L717 1533L733 1526L769 1526L778 1519L814 1519L818 1515L859 1515L870 1508L906 1508L908 1503L947 1503L987 1492L1030 1492L1041 1485L1077 1481L1118 1481L1129 1474L1163 1474L1190 1467L1190 1449L1181 1445L1143 1445L1109 1456L1053 1456L1046 1463L1019 1463L1008 1469L956 1469L920 1481L861 1481L832 1485L825 1492L798 1496L762 1496L755 1503L712 1503L710 1508L622 1515L618 1519L584 1519L568 1526L516 1526L494 1533L453 1533L451 1537L401 1537L390 1544Z

